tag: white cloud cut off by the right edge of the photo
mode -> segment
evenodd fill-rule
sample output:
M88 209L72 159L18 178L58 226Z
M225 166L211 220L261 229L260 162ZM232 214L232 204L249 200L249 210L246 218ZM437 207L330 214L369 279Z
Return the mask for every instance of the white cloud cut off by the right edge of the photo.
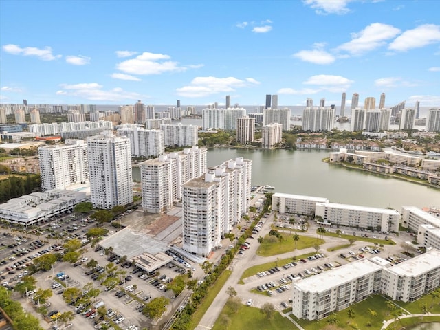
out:
M438 42L440 42L440 25L424 24L415 29L406 30L394 39L388 48L405 52L412 48L420 48Z

